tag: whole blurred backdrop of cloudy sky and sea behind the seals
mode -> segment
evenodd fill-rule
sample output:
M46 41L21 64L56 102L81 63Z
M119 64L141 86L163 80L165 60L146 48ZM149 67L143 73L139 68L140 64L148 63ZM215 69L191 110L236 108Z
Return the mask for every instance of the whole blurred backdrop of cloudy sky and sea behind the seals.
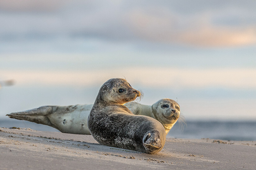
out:
M92 104L110 78L176 100L177 138L256 140L256 1L1 0L0 127L54 128L5 115Z

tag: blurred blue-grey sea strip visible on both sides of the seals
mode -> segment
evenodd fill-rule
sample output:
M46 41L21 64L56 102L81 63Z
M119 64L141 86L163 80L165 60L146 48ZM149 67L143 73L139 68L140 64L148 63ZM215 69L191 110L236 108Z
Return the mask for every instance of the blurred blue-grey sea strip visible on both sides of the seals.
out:
M168 133L169 138L211 138L235 141L256 141L256 121L187 121L184 129L178 123ZM59 132L47 126L21 120L0 120L0 127L23 127ZM182 130L183 129L183 130Z

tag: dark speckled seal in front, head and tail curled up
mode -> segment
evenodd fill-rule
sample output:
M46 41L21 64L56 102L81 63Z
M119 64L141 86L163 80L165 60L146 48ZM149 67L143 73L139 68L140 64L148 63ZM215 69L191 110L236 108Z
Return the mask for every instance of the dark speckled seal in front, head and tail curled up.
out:
M123 104L141 94L125 79L109 79L100 88L88 117L88 129L102 145L154 154L164 147L163 125L152 117L134 115Z

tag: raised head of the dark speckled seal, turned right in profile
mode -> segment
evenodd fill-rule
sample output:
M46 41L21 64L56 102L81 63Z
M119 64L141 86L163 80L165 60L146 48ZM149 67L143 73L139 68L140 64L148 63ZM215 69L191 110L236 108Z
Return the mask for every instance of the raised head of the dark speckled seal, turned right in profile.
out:
M125 104L141 96L140 91L135 90L125 80L120 78L109 79L100 88L97 98L107 103Z

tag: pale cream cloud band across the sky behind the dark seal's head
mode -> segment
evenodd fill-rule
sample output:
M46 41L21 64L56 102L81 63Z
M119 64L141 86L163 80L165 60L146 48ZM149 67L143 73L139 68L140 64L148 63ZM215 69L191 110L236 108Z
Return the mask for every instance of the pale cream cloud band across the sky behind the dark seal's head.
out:
M119 68L90 71L31 71L0 70L5 79L17 85L100 86L114 77L126 78L141 87L182 88L255 88L256 69L175 69L175 68Z

